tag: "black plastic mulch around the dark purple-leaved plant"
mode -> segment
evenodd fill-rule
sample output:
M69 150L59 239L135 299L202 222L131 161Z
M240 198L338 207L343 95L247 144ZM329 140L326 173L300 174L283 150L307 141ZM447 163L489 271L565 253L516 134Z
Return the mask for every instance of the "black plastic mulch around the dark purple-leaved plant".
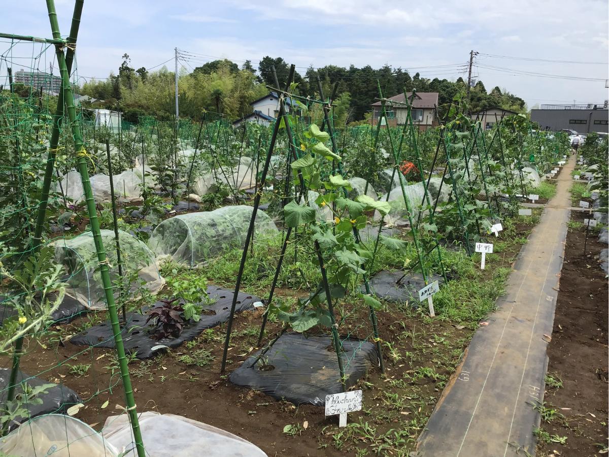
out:
M226 322L230 314L231 303L233 302L233 291L218 286L208 286L207 293L210 299L215 300L214 303L209 306L203 306L203 313L199 321L188 321L177 338L154 338L157 325L146 323L148 318L146 311L150 308L143 309L142 313L127 313L127 323L123 325L121 331L125 349L132 353L135 352L138 359L147 359L160 352L164 352L164 349L178 347L185 341L192 341L203 330ZM239 292L236 313L253 310L254 303L256 302L261 302L261 299ZM157 302L155 306L162 304ZM94 347L114 347L112 335L110 323L103 322L89 328L80 335L74 336L71 342L72 344ZM153 349L155 347L157 349Z

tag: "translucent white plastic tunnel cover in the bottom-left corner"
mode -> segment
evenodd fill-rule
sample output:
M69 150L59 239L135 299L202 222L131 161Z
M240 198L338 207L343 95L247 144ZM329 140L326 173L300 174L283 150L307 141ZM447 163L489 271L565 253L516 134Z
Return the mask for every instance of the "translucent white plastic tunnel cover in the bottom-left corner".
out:
M117 457L118 450L102 434L75 417L46 414L24 423L0 439L7 456Z

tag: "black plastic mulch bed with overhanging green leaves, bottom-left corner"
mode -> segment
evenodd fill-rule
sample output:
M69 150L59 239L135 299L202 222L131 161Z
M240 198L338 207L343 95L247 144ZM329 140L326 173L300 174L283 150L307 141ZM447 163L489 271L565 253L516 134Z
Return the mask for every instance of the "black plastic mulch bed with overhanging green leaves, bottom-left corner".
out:
M0 403L5 404L9 387L10 369L0 368ZM24 384L27 386L24 390ZM48 383L47 381L26 375L18 371L16 380L16 395L23 397L23 411L15 412L15 422L21 423L32 417L49 413L65 413L70 406L80 403L79 395L63 384ZM30 392L29 389L32 389ZM30 392L24 394L24 392ZM46 392L46 393L45 393ZM30 398L31 397L31 398ZM13 408L16 405L13 405ZM12 430L15 422L9 423Z

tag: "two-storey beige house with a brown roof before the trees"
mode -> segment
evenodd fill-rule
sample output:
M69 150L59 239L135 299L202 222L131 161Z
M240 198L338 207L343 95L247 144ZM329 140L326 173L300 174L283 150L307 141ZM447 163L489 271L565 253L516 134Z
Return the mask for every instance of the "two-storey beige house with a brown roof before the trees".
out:
M438 106L438 93L415 92L414 96L412 93L401 93L387 99L385 110L387 111L387 119L390 126L395 127L406 123L406 99L412 104L412 121L419 130L426 130L429 127L438 125L435 116L435 108ZM381 118L381 102L373 103L371 107L371 124L376 126L379 118ZM382 125L385 125L385 119L382 119Z

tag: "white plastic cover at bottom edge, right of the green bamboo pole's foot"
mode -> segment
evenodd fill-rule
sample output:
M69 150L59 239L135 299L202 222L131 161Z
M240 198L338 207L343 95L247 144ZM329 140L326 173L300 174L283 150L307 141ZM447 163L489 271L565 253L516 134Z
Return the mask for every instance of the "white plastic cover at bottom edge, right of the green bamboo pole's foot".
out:
M186 417L146 411L139 414L138 421L146 455L151 457L266 457L249 441ZM121 452L125 450L125 457L137 456L131 425L124 414L106 419L104 438Z

